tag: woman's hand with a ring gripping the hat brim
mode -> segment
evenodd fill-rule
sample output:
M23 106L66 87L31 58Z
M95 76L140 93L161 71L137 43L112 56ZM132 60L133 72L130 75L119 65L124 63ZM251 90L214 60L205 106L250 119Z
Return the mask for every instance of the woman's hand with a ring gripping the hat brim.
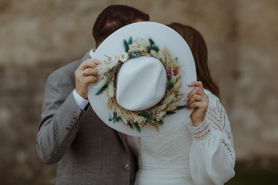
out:
M204 93L203 84L200 81L192 81L188 84L195 88L188 94L185 101L188 105L187 109L194 109L190 115L192 125L197 127L204 122L204 117L208 109L208 95Z

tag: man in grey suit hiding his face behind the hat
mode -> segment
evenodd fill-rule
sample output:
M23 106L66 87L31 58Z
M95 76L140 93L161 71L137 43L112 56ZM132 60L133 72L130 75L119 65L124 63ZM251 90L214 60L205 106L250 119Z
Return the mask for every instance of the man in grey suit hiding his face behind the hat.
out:
M149 15L128 6L108 6L93 28L96 47L114 31L139 21L149 21ZM124 134L103 123L87 100L87 84L97 80L97 72L87 67L100 63L93 55L91 50L48 77L37 153L46 164L58 162L57 185L133 184L137 161Z

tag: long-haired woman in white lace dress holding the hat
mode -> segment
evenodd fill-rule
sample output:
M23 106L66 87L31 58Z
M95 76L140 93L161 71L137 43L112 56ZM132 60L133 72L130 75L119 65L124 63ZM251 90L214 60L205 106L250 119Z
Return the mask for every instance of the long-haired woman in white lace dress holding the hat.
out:
M168 25L189 45L196 64L197 80L186 98L190 119L162 135L127 136L138 159L135 185L224 184L234 177L235 153L230 122L219 100L219 88L208 70L207 47L194 28Z

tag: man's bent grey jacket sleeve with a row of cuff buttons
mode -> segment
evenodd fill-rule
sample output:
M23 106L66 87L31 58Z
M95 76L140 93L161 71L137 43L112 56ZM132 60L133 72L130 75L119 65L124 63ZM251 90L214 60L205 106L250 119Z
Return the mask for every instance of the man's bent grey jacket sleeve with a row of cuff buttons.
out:
M65 72L57 70L48 77L36 136L37 153L46 164L65 155L86 113L76 104L73 90L73 79Z

